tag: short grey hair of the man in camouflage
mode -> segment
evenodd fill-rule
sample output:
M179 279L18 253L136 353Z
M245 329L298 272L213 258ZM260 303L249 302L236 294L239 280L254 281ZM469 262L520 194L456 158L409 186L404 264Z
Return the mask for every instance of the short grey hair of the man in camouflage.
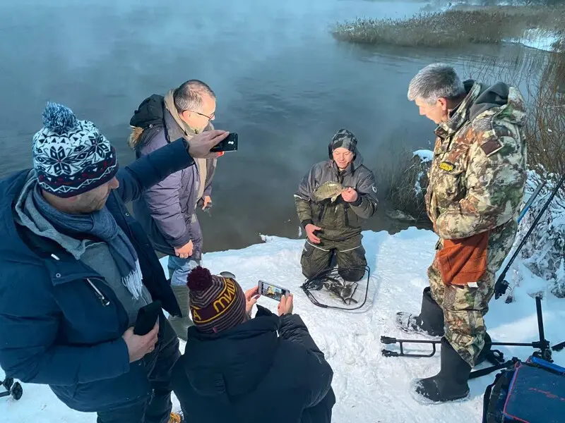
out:
M465 95L465 87L452 66L432 63L416 74L408 86L408 99L422 99L434 104L440 98L458 99Z

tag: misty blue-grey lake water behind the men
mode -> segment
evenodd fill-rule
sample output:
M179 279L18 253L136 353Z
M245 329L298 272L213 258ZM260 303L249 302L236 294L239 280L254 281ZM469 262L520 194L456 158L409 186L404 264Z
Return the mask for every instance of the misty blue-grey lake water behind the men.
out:
M0 176L31 166L31 138L47 100L95 122L119 153L129 118L150 94L198 78L218 95L217 128L239 133L201 214L206 251L259 234L298 236L292 194L340 128L352 130L369 168L391 149L430 148L434 124L406 99L410 78L461 52L362 49L338 44L338 20L410 16L425 2L362 0L13 1L0 4ZM488 49L489 54L496 54ZM383 207L367 223L395 230Z

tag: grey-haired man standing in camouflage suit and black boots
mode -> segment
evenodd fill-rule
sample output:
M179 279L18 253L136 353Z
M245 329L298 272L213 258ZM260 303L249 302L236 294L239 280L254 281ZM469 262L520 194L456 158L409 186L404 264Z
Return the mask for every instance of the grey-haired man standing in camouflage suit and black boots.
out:
M525 104L516 87L462 82L441 63L417 73L408 99L438 125L426 205L439 241L420 315L400 312L397 322L443 337L441 371L415 387L442 402L468 396L471 369L489 350L484 314L516 238L526 179Z

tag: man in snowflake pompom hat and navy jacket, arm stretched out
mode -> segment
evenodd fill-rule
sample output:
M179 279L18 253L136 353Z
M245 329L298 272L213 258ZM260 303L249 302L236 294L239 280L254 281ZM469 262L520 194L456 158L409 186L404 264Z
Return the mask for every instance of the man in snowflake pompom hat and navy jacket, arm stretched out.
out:
M98 423L166 423L179 340L160 313L144 336L138 310L160 300L181 314L147 235L125 203L209 157L228 133L171 142L118 171L90 121L48 104L33 169L0 183L0 365L46 384ZM188 145L187 145L188 144Z

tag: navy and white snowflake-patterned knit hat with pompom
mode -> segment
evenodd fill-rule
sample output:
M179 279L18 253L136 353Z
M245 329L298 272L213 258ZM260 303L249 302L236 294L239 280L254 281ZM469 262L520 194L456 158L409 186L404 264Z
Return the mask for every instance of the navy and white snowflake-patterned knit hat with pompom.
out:
M38 183L57 197L93 190L118 171L114 147L94 123L51 102L43 111L43 128L33 136L32 154Z

